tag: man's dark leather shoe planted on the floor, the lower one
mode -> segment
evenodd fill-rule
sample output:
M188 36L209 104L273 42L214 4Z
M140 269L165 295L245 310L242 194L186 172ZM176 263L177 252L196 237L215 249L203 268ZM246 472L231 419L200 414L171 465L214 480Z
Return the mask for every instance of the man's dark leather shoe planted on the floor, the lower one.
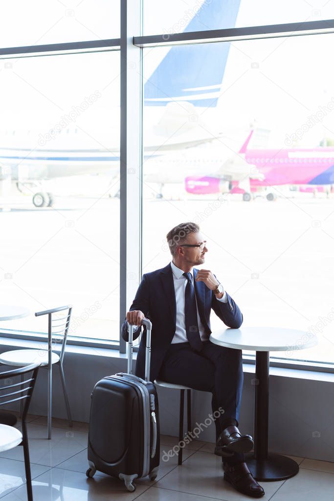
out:
M224 480L233 485L236 490L251 497L264 495L263 488L253 478L246 463L222 463L222 467Z

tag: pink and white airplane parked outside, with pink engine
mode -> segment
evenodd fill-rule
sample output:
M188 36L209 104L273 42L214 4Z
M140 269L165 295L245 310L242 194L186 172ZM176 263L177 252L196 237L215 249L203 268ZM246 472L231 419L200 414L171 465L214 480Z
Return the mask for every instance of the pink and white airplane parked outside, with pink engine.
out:
M323 191L334 184L334 147L248 149L253 130L237 154L223 162L212 174L187 176L185 190L192 194L242 193L249 201L251 192L279 185L300 186L300 191ZM322 188L319 188L319 185ZM276 194L269 190L266 199Z

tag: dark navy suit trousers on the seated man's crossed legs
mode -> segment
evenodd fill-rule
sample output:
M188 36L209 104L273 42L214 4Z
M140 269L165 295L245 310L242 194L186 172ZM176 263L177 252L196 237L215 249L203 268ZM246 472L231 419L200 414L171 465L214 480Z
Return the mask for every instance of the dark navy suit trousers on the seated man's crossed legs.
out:
M216 440L226 426L238 426L243 383L241 350L218 346L211 341L202 341L199 352L193 350L189 343L170 344L158 378L212 393ZM229 463L243 462L244 455L235 453L222 460Z

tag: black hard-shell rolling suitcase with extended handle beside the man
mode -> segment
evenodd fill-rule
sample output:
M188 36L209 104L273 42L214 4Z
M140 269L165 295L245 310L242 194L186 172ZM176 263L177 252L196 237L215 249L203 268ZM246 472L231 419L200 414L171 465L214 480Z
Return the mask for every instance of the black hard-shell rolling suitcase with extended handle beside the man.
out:
M91 394L87 477L96 470L124 480L135 490L135 478L154 480L160 459L157 393L149 382L152 324L146 326L145 379L132 372L133 326L129 325L127 374L120 372L98 381Z

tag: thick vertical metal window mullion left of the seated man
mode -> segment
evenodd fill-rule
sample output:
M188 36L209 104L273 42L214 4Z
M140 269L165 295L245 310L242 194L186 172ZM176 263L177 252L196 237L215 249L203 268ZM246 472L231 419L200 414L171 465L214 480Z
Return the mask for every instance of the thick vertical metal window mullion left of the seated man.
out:
M141 2L120 2L120 272L119 330L134 298L141 262ZM126 352L120 336L120 353Z

